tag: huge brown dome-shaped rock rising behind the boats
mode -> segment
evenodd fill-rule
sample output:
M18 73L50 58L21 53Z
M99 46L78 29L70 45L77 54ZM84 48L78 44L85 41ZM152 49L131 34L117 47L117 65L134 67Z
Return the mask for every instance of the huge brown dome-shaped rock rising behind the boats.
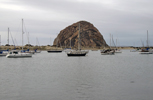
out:
M61 30L54 40L54 45L62 47L78 47L78 33L80 23L81 47L107 47L103 36L93 24L86 21L79 21Z

